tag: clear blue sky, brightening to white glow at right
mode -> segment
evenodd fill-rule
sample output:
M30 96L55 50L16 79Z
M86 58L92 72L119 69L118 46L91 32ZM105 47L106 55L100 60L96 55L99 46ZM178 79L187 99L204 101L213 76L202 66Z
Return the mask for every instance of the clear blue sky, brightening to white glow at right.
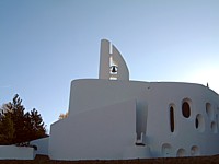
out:
M97 78L102 38L132 80L219 93L219 0L0 0L0 104L18 93L49 129L71 80Z

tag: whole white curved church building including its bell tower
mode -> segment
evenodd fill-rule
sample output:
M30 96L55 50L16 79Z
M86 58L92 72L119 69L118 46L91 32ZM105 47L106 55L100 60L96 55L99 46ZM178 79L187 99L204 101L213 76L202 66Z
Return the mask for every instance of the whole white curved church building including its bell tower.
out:
M53 160L126 160L219 154L219 95L207 86L129 80L101 42L99 79L71 82L69 116L50 127Z

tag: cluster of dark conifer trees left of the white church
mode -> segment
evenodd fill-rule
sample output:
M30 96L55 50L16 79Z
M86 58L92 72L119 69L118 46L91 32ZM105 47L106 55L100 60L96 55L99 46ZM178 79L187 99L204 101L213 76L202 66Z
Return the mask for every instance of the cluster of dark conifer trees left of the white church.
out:
M22 99L16 94L0 117L0 144L19 144L47 137L41 114L34 108L25 113Z

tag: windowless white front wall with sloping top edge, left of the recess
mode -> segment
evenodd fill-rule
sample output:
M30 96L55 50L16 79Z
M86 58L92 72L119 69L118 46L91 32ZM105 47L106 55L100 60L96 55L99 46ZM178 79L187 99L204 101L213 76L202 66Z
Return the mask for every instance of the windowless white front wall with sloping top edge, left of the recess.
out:
M123 159L136 140L136 101L92 108L51 125L54 160Z

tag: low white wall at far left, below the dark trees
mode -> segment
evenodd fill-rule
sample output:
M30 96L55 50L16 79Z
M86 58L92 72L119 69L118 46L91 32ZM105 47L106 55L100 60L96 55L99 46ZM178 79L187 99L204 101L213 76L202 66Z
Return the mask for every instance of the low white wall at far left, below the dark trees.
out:
M34 157L33 148L0 145L0 160L33 160Z

